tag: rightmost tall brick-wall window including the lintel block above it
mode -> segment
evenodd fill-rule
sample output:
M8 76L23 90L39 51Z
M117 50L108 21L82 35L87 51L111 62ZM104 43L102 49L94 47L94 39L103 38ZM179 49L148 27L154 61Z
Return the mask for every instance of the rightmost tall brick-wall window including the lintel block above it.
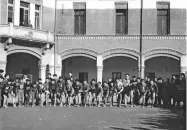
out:
M170 34L170 10L168 2L157 2L157 34Z

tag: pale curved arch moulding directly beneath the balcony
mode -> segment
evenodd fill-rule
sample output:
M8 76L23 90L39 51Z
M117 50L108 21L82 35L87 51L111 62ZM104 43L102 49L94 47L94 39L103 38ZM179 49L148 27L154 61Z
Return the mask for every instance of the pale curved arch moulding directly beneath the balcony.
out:
M39 50L34 49L34 48L28 48L28 47L11 47L10 49L8 49L7 51L7 55L11 55L14 53L28 53L31 54L35 57L37 57L38 59L42 58L42 54Z

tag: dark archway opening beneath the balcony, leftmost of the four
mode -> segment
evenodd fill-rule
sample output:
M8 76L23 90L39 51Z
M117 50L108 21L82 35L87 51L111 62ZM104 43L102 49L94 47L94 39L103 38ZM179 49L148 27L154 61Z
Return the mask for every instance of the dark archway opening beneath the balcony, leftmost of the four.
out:
M10 78L28 74L32 81L36 81L39 77L39 61L38 57L28 53L11 53L7 56L6 72L10 74Z

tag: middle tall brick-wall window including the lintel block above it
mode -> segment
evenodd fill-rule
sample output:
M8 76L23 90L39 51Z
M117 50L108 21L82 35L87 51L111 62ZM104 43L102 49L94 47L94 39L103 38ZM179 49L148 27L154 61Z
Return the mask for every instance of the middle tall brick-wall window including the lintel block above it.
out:
M126 2L115 3L116 34L128 34L128 7Z

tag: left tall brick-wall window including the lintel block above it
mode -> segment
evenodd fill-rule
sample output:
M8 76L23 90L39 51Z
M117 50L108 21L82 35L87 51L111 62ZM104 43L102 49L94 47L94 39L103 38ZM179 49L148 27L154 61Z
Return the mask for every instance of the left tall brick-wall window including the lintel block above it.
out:
M74 33L86 34L86 3L74 3Z

